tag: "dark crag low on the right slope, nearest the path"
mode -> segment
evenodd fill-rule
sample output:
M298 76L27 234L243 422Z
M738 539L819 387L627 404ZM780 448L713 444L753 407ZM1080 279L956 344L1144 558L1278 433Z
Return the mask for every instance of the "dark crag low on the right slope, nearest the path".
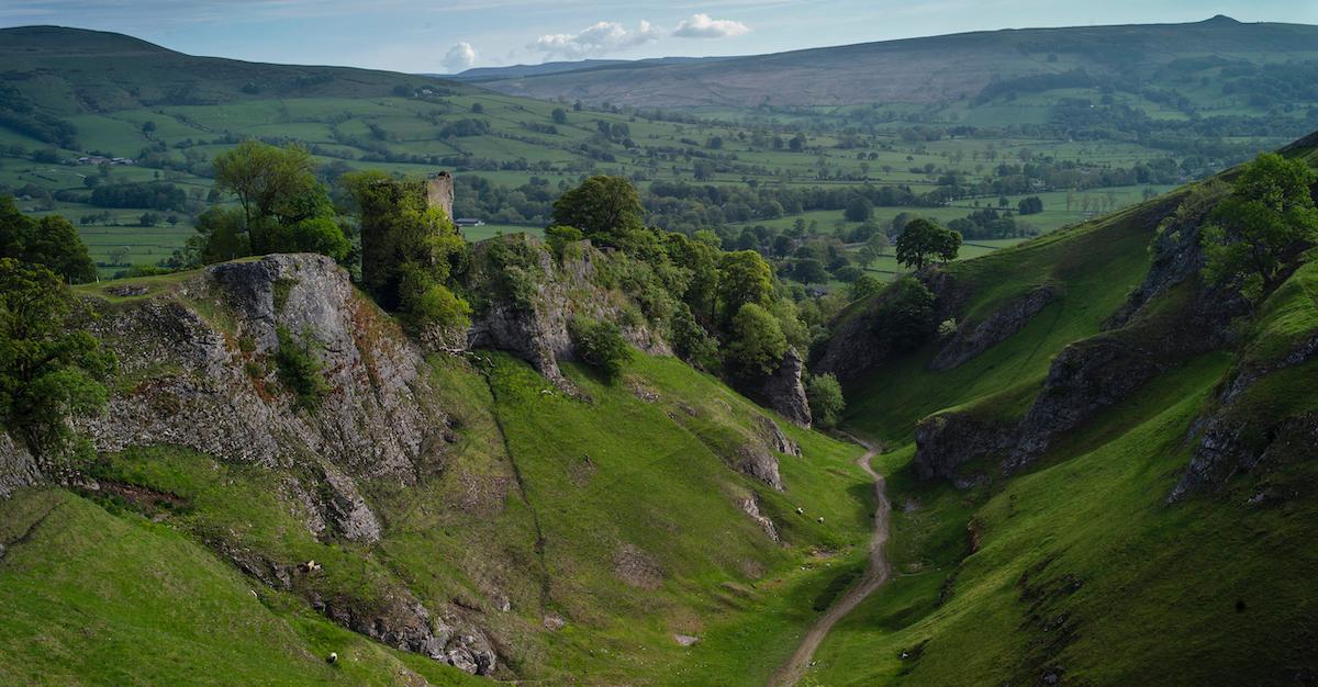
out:
M915 426L915 474L919 479L944 478L965 484L969 480L961 474L961 466L985 457L1006 455L1019 438L1015 422L956 411L932 415Z

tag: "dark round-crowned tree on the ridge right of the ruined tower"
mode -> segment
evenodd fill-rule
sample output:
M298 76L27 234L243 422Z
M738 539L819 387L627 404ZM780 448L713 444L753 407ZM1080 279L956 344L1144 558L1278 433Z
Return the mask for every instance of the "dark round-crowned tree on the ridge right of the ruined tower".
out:
M554 201L550 224L576 226L605 246L622 246L641 230L645 208L631 182L622 176L592 176Z

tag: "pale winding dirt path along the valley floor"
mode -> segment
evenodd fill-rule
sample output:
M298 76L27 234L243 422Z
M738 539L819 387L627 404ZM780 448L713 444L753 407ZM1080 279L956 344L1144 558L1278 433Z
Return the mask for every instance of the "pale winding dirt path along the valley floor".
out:
M874 478L874 500L878 504L874 509L874 536L870 538L870 565L865 569L865 575L861 576L859 582L846 590L842 596L837 598L833 605L828 607L824 615L811 625L811 629L801 637L801 644L797 645L792 657L768 679L770 687L789 687L796 684L805 675L811 657L815 655L815 650L818 649L820 642L833 629L833 625L859 605L874 590L878 590L888 580L888 561L883 555L883 545L888 541L888 513L892 507L888 504L888 497L883 488L883 475L870 467L870 458L874 458L875 453L874 446L855 437L851 437L851 440L866 449L865 455L855 463L861 466L861 470L865 470L865 474Z

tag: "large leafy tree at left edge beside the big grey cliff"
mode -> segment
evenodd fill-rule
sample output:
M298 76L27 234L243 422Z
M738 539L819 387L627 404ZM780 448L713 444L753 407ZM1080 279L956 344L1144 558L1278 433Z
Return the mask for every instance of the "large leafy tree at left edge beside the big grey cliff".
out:
M67 419L105 403L112 353L67 325L74 296L41 265L0 258L0 425L38 454L65 450Z

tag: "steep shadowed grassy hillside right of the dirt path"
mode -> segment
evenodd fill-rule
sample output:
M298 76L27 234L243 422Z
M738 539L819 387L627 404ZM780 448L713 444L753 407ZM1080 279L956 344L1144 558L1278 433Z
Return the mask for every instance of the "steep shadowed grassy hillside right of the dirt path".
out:
M1286 153L1310 159L1313 137ZM956 308L963 326L1040 284L1060 295L961 366L931 369L946 345L936 341L853 386L850 426L887 446L875 466L890 475L895 574L824 642L812 684L1302 684L1318 675L1304 620L1315 611L1307 542L1318 455L1302 438L1318 416L1301 391L1318 380L1318 272L1305 265L1252 315L1227 317L1234 334L1223 344L1176 340L1205 317L1194 303L1206 287L1193 271L1128 316L1128 299L1147 293L1141 282L1170 274L1166 240L1155 237L1189 192L949 266L957 288L944 293L969 293ZM1197 236L1176 250L1197 250ZM1232 308L1220 299L1209 312ZM1162 346L1176 358L1123 384L1123 370L1144 372L1111 361ZM1094 351L1108 362L1093 362ZM1077 411L1053 403L1066 384L1090 384L1090 403L1107 405L1085 408L1041 453L1023 453L1029 425L1056 420L1040 420L1040 404ZM938 453L948 449L974 458ZM953 478L931 478L942 459Z

